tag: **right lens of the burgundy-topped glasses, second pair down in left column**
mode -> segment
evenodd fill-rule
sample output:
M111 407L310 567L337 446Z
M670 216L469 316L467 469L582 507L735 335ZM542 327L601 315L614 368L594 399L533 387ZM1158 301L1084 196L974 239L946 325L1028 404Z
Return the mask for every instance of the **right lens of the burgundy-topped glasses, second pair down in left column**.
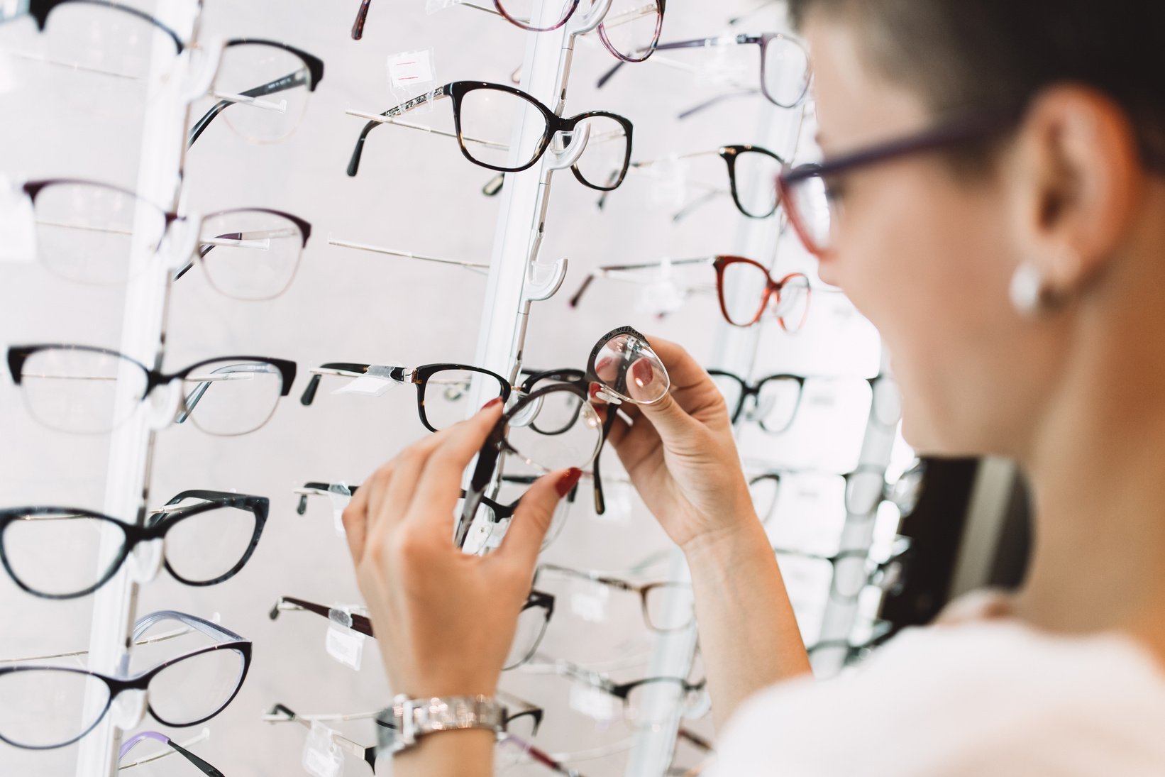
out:
M203 219L198 254L206 277L235 299L271 299L287 290L299 266L299 225L266 211L225 211Z

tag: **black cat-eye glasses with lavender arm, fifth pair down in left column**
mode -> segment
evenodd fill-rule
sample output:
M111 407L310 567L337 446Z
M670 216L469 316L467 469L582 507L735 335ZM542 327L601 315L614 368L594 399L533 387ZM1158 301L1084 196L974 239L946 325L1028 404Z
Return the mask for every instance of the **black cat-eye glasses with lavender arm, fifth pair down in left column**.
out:
M49 750L82 739L101 721L125 693L139 692L144 702L114 720L133 728L148 709L163 726L197 726L231 704L250 667L250 641L210 621L161 610L134 624L136 641L160 623L178 623L214 641L136 674L129 656L115 676L63 666L0 666L0 741L29 750ZM31 701L30 701L31 700Z

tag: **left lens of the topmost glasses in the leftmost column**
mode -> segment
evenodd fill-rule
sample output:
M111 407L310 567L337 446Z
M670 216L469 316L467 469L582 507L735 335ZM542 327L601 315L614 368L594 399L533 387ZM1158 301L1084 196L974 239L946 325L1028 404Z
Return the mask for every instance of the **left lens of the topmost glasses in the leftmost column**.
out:
M178 47L160 27L113 3L65 2L49 14L44 42L51 78L77 108L108 115L150 94L150 64L169 75Z

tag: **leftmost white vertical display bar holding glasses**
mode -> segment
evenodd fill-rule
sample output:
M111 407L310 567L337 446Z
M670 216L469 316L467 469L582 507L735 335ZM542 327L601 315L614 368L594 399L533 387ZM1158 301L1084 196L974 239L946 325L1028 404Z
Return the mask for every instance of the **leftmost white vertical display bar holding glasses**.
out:
M202 0L168 0L155 10L160 21L177 31L189 43L197 35ZM160 47L150 63L151 82L160 87L151 96L142 126L141 156L136 191L144 203L155 203L176 211L182 186L182 162L189 114L186 76L190 49L175 61L172 48ZM167 77L165 73L169 73ZM172 238L174 235L171 235ZM174 257L170 255L184 240L170 239L153 255L148 240L134 240L130 261L142 270L126 287L121 327L121 353L143 365L161 367L165 342L165 317ZM126 390L125 384L119 390ZM139 525L146 518L150 465L154 448L156 411L149 402L140 402L133 416L120 425L110 442L104 510ZM103 544L115 542L111 534ZM108 549L100 551L108 558ZM137 602L136 577L144 570L126 564L112 580L97 591L93 599L92 630L89 643L89 667L116 674L128 665L130 633ZM86 699L86 705L101 704ZM113 711L78 747L77 777L113 777L118 772L118 749L121 730L114 725Z

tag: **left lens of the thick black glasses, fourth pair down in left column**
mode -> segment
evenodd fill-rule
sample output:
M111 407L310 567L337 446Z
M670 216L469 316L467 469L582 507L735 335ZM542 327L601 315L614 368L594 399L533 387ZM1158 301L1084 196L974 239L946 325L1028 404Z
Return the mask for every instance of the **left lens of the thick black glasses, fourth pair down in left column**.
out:
M92 589L115 571L126 532L108 518L30 510L5 527L0 543L19 582L40 594L71 596Z

